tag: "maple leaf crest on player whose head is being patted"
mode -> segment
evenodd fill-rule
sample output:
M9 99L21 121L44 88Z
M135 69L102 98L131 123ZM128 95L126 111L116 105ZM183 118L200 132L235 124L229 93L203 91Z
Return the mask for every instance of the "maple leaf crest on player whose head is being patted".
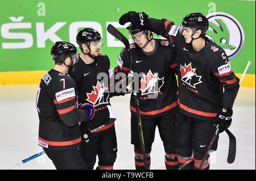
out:
M158 73L152 74L151 70L147 75L143 74L141 79L141 95L152 94L160 92L160 88L164 85L164 77L159 78Z

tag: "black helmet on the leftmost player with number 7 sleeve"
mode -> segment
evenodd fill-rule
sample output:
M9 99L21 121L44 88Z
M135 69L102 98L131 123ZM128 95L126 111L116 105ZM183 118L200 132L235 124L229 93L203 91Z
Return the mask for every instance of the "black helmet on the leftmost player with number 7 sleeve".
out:
M77 50L75 45L65 41L57 41L51 49L51 56L53 60L63 62L64 64L66 56L71 56L72 61L74 61L76 53Z

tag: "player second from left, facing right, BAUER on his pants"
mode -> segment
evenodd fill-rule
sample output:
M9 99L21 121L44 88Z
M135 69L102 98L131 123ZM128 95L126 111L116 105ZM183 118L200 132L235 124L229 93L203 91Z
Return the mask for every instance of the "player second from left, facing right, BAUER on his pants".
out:
M90 103L96 109L93 121L81 124L82 155L88 169L93 169L98 155L96 169L112 170L117 157L117 138L114 127L115 115L112 116L113 108L109 102L109 57L99 53L101 35L96 30L81 30L77 34L77 44L81 53L71 77L77 83L79 104ZM97 79L98 75L103 77Z

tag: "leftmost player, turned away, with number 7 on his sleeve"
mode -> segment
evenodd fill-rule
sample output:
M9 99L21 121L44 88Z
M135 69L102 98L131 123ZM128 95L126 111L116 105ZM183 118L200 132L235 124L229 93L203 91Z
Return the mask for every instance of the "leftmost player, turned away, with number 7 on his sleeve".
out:
M44 74L36 96L39 115L38 145L42 146L56 169L87 169L82 159L79 123L93 119L89 104L77 108L77 87L68 71L76 61L75 45L56 42L51 55L55 66Z

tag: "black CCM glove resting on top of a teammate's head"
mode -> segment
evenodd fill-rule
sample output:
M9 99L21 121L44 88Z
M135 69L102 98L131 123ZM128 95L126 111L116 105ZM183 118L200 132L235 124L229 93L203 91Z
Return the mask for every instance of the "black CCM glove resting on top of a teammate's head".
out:
M147 27L147 18L148 15L144 12L129 11L119 18L119 24L124 25L125 23L130 22L133 26L141 25Z

